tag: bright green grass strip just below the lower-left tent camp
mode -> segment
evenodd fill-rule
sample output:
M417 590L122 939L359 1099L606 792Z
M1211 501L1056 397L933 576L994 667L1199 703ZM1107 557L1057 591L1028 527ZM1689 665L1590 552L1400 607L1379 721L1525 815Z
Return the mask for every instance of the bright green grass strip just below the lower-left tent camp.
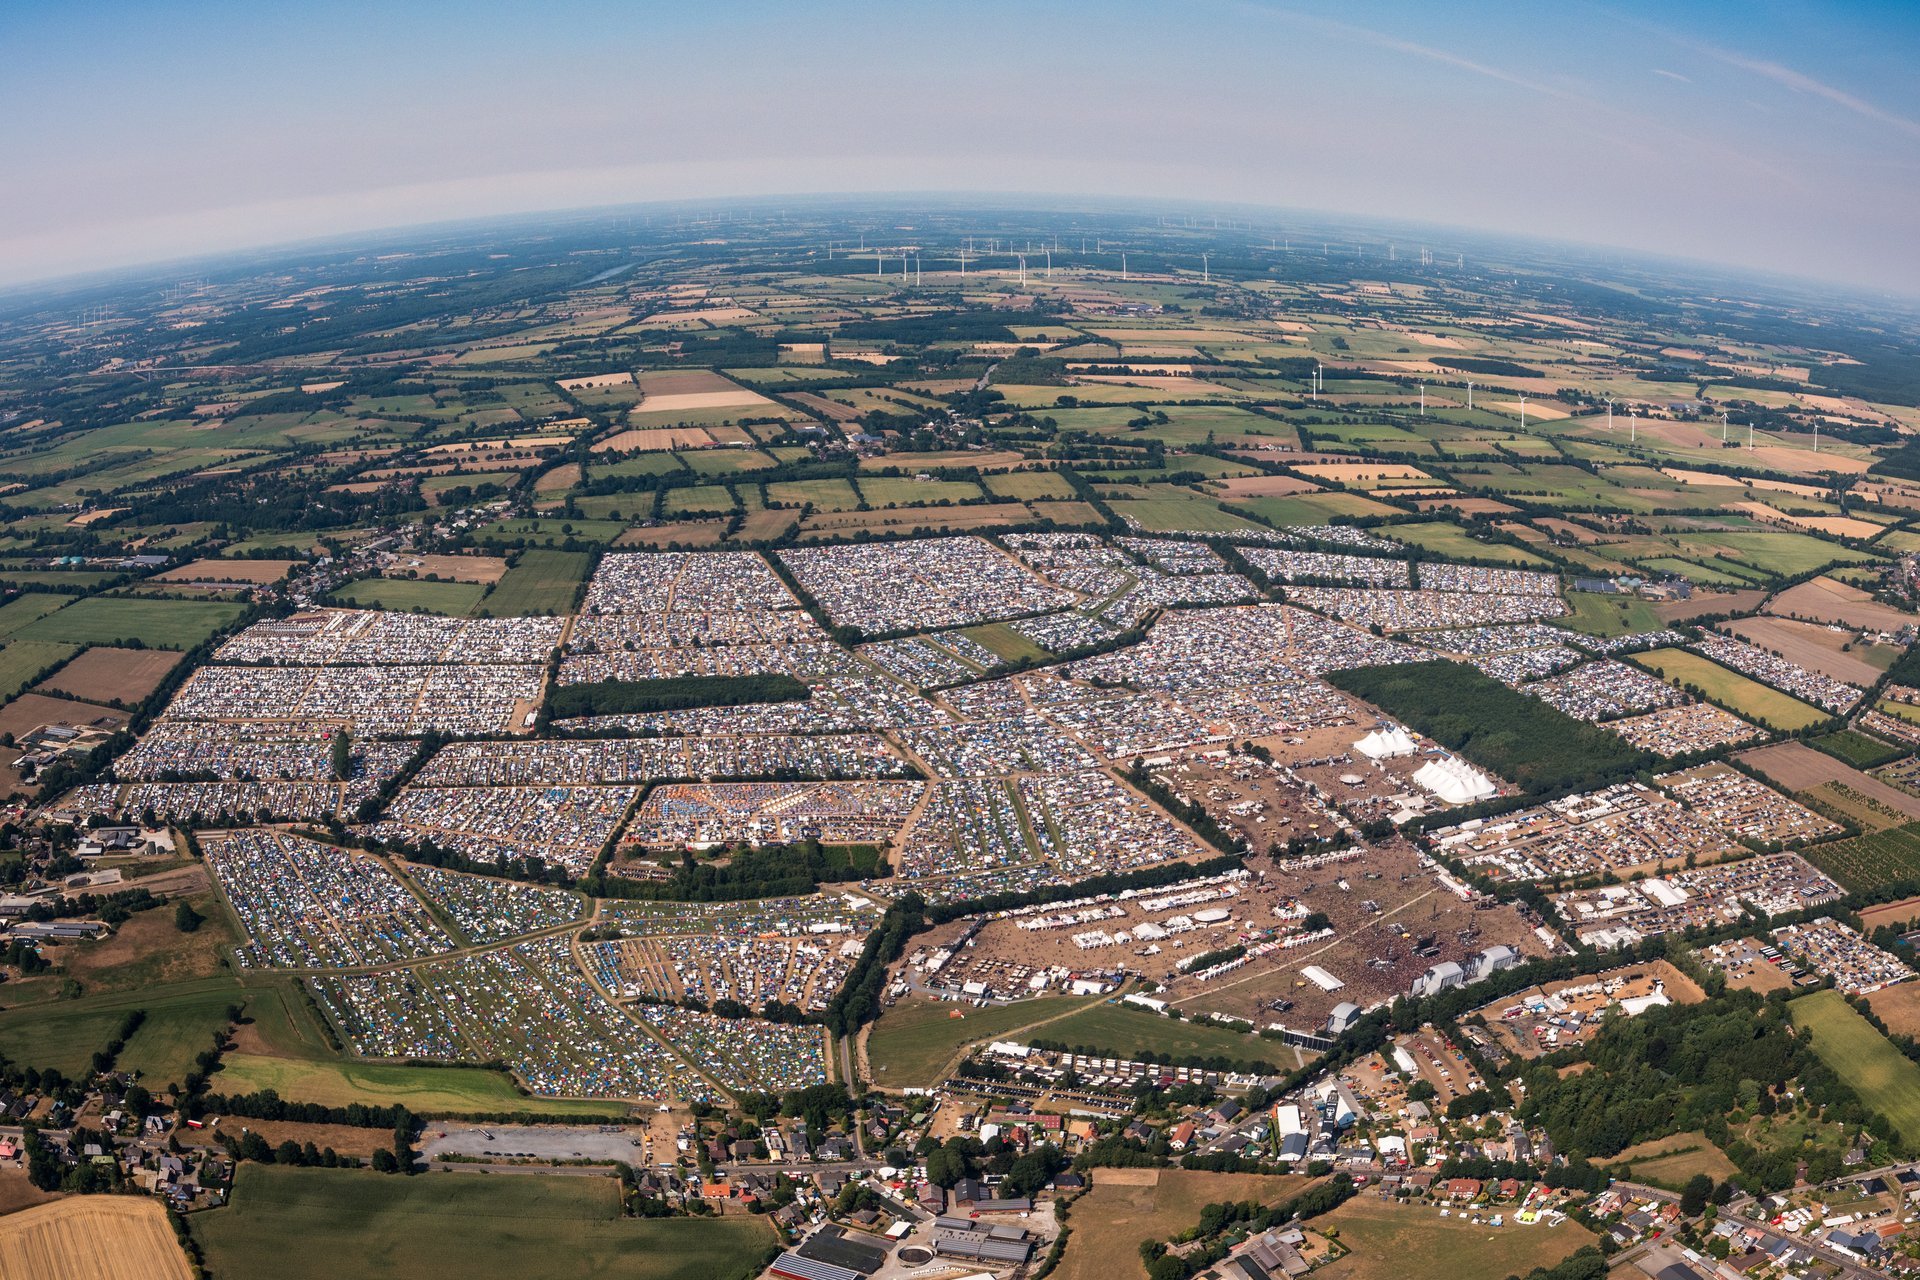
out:
M228 1054L213 1088L223 1094L271 1088L292 1102L319 1102L330 1107L355 1102L384 1107L403 1102L426 1113L626 1115L624 1103L528 1098L499 1071L480 1067L399 1067Z

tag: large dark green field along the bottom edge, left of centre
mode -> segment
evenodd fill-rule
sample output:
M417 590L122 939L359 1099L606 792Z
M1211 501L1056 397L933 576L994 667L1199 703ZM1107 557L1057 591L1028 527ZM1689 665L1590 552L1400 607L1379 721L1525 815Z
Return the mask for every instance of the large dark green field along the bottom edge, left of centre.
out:
M612 1178L244 1165L232 1203L192 1226L215 1276L278 1280L745 1280L774 1244L766 1219L622 1219L618 1203Z

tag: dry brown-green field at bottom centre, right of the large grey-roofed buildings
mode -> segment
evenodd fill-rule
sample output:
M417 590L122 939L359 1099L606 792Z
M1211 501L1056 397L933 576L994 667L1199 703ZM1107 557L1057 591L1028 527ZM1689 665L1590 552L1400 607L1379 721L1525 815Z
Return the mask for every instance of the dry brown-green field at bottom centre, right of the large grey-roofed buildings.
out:
M1190 1169L1102 1169L1092 1190L1073 1201L1073 1234L1052 1272L1060 1280L1135 1280L1146 1276L1140 1244L1167 1240L1200 1221L1217 1201L1277 1203L1298 1196L1309 1178ZM1492 1272L1459 1272L1492 1274ZM1505 1272L1500 1272L1505 1274Z

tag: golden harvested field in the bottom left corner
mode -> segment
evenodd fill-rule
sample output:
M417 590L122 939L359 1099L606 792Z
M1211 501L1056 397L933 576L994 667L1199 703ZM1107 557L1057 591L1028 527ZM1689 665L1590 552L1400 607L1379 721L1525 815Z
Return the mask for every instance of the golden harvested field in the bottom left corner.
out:
M0 1219L0 1276L190 1280L167 1211L144 1196L75 1196Z

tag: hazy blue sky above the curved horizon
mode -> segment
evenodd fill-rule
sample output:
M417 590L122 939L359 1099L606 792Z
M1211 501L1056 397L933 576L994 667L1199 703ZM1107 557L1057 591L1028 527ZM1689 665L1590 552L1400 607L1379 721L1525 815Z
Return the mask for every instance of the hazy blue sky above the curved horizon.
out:
M0 284L465 217L1177 198L1920 296L1920 4L0 0Z

